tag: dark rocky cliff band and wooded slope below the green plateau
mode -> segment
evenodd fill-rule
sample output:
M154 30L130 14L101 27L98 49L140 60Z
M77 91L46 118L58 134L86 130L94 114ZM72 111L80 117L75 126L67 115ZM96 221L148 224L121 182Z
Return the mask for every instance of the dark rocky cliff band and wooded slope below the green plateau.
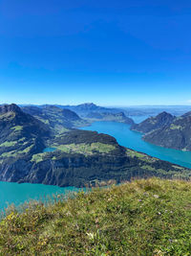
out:
M3 181L75 187L106 184L111 179L119 183L132 177L181 175L189 176L190 170L130 150L88 156L57 151L44 154L40 161L18 159L0 165Z

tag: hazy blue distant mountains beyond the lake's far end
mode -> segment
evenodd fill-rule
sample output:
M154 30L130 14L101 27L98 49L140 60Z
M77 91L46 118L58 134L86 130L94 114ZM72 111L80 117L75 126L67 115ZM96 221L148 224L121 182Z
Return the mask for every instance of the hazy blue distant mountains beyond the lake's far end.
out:
M96 121L134 124L133 119L127 117L123 112L119 112L119 109L105 108L94 104L70 107L63 105L27 105L23 106L22 110L59 131L65 128L85 127Z

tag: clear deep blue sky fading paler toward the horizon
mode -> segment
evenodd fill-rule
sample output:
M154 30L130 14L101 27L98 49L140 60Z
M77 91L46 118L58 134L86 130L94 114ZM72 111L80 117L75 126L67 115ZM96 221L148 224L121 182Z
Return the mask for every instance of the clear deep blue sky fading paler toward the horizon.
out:
M0 104L191 104L191 1L0 0Z

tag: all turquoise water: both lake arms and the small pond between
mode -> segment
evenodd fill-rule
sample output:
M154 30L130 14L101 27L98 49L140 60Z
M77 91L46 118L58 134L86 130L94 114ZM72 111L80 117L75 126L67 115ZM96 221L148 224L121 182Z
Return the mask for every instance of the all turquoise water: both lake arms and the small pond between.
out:
M137 118L142 121L141 117ZM160 148L141 140L141 134L130 130L130 126L115 122L96 122L90 127L82 128L86 130L96 130L114 136L117 142L127 148L142 151L152 156L158 157L172 163L191 168L191 151L176 151ZM45 151L54 151L47 148ZM77 191L74 187L59 188L56 186L41 184L17 184L10 182L0 182L0 210L14 203L18 205L30 199L42 199L52 197L55 194L66 194Z

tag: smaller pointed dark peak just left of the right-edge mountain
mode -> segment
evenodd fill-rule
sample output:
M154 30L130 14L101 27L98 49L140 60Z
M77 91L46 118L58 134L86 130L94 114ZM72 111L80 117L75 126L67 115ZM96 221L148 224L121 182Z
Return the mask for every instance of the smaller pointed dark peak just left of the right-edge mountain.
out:
M175 118L175 116L169 113L162 112L156 117L150 117L145 121L141 122L140 124L133 125L131 129L147 133L152 130L168 126L175 120Z

